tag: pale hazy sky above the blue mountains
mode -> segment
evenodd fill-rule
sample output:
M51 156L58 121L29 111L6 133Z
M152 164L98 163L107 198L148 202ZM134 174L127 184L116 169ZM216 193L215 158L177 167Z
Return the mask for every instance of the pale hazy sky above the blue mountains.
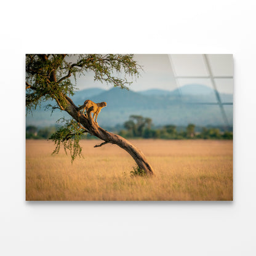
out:
M207 55L212 73L215 76L233 76L233 55L215 54ZM212 87L210 79L176 79L177 76L207 76L207 68L201 54L135 54L135 60L143 66L141 76L134 80L131 90L140 91L148 89L174 90L186 84L203 84ZM217 89L223 93L233 93L233 79L215 79ZM79 89L100 87L111 89L113 86L94 82L92 73L81 76L77 85Z

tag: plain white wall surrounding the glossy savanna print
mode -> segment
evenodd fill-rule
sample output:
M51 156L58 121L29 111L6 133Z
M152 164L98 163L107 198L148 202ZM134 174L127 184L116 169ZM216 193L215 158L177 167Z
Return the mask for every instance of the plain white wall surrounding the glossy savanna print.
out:
M1 255L255 255L255 1L1 4ZM234 54L233 202L25 202L26 53Z

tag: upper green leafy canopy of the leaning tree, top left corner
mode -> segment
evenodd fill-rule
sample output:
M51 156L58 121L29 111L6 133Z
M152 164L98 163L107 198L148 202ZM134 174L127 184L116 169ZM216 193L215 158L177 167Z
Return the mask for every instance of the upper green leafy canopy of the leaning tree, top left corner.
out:
M132 81L127 76L138 76L139 68L132 54L27 54L26 107L36 108L49 99L65 106L65 96L73 95L75 89L71 76L86 75L87 71L94 73L95 81L128 89ZM119 78L120 73L127 76Z

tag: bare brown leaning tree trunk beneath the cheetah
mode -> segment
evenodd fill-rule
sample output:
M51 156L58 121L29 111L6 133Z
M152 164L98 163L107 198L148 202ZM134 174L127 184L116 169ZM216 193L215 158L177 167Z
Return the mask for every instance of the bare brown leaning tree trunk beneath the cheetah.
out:
M142 151L140 151L136 146L132 145L128 140L125 138L113 134L111 132L108 132L107 130L104 130L102 127L98 126L98 124L92 119L92 115L90 112L93 110L93 106L89 108L87 116L84 116L84 114L81 114L79 110L84 108L84 105L79 106L79 108L74 105L73 101L66 97L67 105L65 107L65 111L68 112L79 124L81 124L87 132L90 134L104 140L103 143L97 146L105 145L106 143L116 144L126 150L130 156L134 159L134 161L137 163L138 167L140 169L145 170L145 173L148 175L153 175L153 169L146 161L146 158Z

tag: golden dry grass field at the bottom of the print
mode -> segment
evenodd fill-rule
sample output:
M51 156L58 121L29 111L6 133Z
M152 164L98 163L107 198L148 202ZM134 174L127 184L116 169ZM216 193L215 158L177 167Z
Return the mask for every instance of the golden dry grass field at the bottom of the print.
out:
M26 200L233 200L233 142L130 140L143 151L153 177L130 177L135 166L116 145L94 148L71 164L54 143L26 140Z

